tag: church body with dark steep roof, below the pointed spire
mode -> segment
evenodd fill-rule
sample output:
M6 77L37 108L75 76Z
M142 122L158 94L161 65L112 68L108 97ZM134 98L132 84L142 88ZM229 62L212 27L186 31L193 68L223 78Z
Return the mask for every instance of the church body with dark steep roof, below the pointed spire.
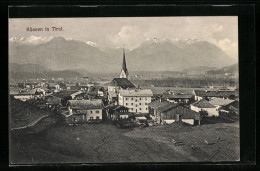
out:
M108 91L118 92L123 89L135 89L135 86L127 78L114 78L108 85Z

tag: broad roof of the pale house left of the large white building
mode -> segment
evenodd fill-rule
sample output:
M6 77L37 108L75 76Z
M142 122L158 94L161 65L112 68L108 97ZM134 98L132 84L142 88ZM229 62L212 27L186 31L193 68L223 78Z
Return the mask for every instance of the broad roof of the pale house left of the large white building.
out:
M104 104L101 99L69 100L68 106L70 106L72 109L102 109Z

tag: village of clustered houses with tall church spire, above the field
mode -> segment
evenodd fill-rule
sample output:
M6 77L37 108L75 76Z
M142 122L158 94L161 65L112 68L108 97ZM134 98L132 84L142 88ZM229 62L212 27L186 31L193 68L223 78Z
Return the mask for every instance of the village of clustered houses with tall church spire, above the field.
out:
M10 85L10 96L41 110L55 110L68 124L113 121L125 126L173 122L200 125L205 115L239 115L237 89L194 89L192 93L168 90L157 94L133 85L128 75L124 52L119 77L107 85L97 85L87 79L74 85L40 80Z

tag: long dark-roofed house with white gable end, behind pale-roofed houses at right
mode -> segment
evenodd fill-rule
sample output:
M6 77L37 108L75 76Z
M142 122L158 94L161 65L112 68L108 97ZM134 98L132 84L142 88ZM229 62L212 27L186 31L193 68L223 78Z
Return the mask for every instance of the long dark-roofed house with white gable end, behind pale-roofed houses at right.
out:
M235 95L235 91L223 91L223 90L193 90L193 94L195 96L195 101L199 101L201 99L212 99L214 97L225 98L228 99Z

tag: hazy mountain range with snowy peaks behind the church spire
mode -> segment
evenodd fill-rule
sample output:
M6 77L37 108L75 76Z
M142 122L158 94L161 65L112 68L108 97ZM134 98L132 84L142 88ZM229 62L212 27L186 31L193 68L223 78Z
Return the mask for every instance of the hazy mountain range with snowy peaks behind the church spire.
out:
M9 62L43 66L32 70L48 68L86 73L120 72L122 51L122 48L104 48L94 42L82 42L64 37L46 38L40 43L11 38ZM126 49L125 54L129 72L182 71L198 66L221 68L236 63L216 45L199 40L149 40L131 51ZM23 70L17 67L11 68Z

